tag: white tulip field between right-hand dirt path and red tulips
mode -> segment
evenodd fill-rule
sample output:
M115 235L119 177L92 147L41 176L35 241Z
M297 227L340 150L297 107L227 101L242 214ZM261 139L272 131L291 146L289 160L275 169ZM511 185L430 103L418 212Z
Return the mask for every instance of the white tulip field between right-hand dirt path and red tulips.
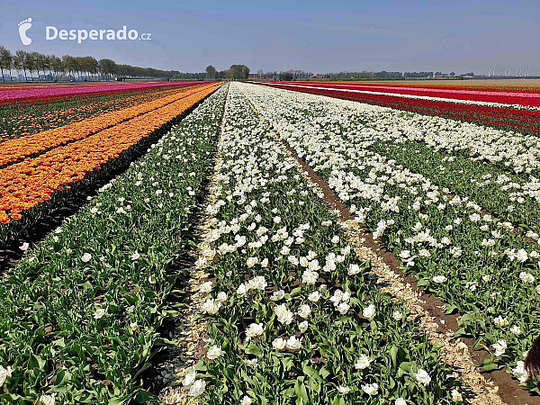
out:
M246 93L419 286L462 315L457 334L496 348L484 366L519 377L538 335L537 139L262 85Z

